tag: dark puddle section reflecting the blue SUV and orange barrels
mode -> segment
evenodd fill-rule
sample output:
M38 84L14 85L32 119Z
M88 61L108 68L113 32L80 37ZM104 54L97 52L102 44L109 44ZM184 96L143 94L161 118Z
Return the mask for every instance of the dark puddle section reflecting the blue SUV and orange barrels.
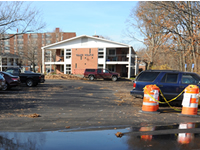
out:
M129 149L200 149L199 123L141 127L140 132L129 132Z

